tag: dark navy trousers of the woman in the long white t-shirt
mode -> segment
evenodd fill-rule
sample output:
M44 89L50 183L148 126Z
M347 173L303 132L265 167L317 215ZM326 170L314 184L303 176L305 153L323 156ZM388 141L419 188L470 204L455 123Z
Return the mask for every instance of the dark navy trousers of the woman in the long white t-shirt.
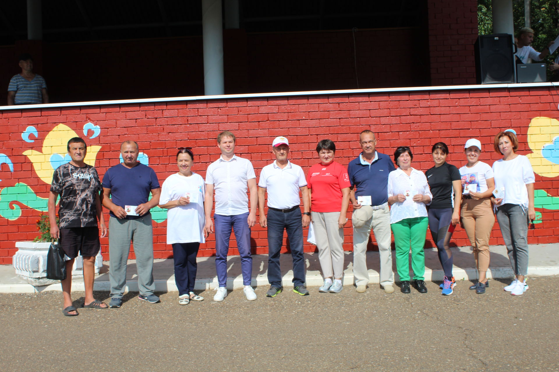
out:
M178 295L188 294L194 291L196 281L196 255L200 243L174 243L173 262L175 267L175 283L177 283Z

